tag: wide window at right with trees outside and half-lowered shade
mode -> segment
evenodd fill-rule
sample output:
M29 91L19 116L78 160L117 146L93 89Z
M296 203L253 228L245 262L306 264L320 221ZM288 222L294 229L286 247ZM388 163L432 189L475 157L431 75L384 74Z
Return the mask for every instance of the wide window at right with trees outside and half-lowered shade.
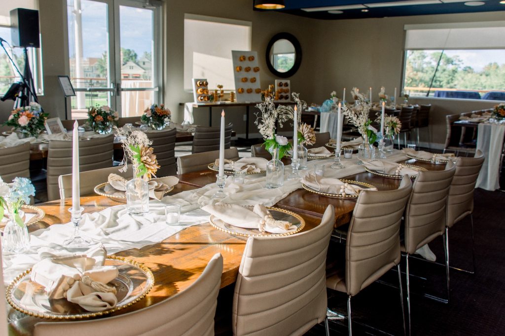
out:
M404 94L505 100L505 21L405 29Z

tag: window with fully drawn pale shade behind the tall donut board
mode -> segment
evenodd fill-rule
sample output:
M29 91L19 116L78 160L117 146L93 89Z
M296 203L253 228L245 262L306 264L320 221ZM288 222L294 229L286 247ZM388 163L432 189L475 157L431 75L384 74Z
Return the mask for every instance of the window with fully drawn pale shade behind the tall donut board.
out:
M186 14L184 89L192 90L192 78L206 78L211 88L235 90L231 51L250 48L250 22Z

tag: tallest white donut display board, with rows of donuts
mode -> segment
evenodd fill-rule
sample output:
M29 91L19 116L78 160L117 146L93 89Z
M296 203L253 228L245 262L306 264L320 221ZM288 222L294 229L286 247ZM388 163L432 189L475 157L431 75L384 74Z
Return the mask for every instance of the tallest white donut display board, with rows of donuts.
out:
M258 52L232 50L237 102L261 102Z

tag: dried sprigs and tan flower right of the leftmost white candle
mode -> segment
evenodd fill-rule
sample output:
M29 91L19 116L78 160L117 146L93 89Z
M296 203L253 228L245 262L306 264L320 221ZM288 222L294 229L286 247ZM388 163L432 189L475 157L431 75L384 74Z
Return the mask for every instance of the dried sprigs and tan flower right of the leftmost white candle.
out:
M133 163L134 177L143 177L144 180L148 180L153 176L156 177L160 165L154 154L154 149L150 147L153 142L140 130L130 131L129 127L116 127L116 139L121 142L125 152L125 156L120 163L120 166L124 165L124 167L120 171L127 170L129 159Z

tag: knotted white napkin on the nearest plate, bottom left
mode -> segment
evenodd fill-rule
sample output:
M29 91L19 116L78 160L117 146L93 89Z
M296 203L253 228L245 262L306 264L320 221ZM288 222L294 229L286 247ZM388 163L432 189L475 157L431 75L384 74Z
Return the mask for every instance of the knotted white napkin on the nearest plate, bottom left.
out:
M41 249L41 260L32 267L30 280L45 287L50 299L67 298L87 311L116 306L116 288L107 285L119 272L104 266L107 251L93 247L82 254L51 253Z

